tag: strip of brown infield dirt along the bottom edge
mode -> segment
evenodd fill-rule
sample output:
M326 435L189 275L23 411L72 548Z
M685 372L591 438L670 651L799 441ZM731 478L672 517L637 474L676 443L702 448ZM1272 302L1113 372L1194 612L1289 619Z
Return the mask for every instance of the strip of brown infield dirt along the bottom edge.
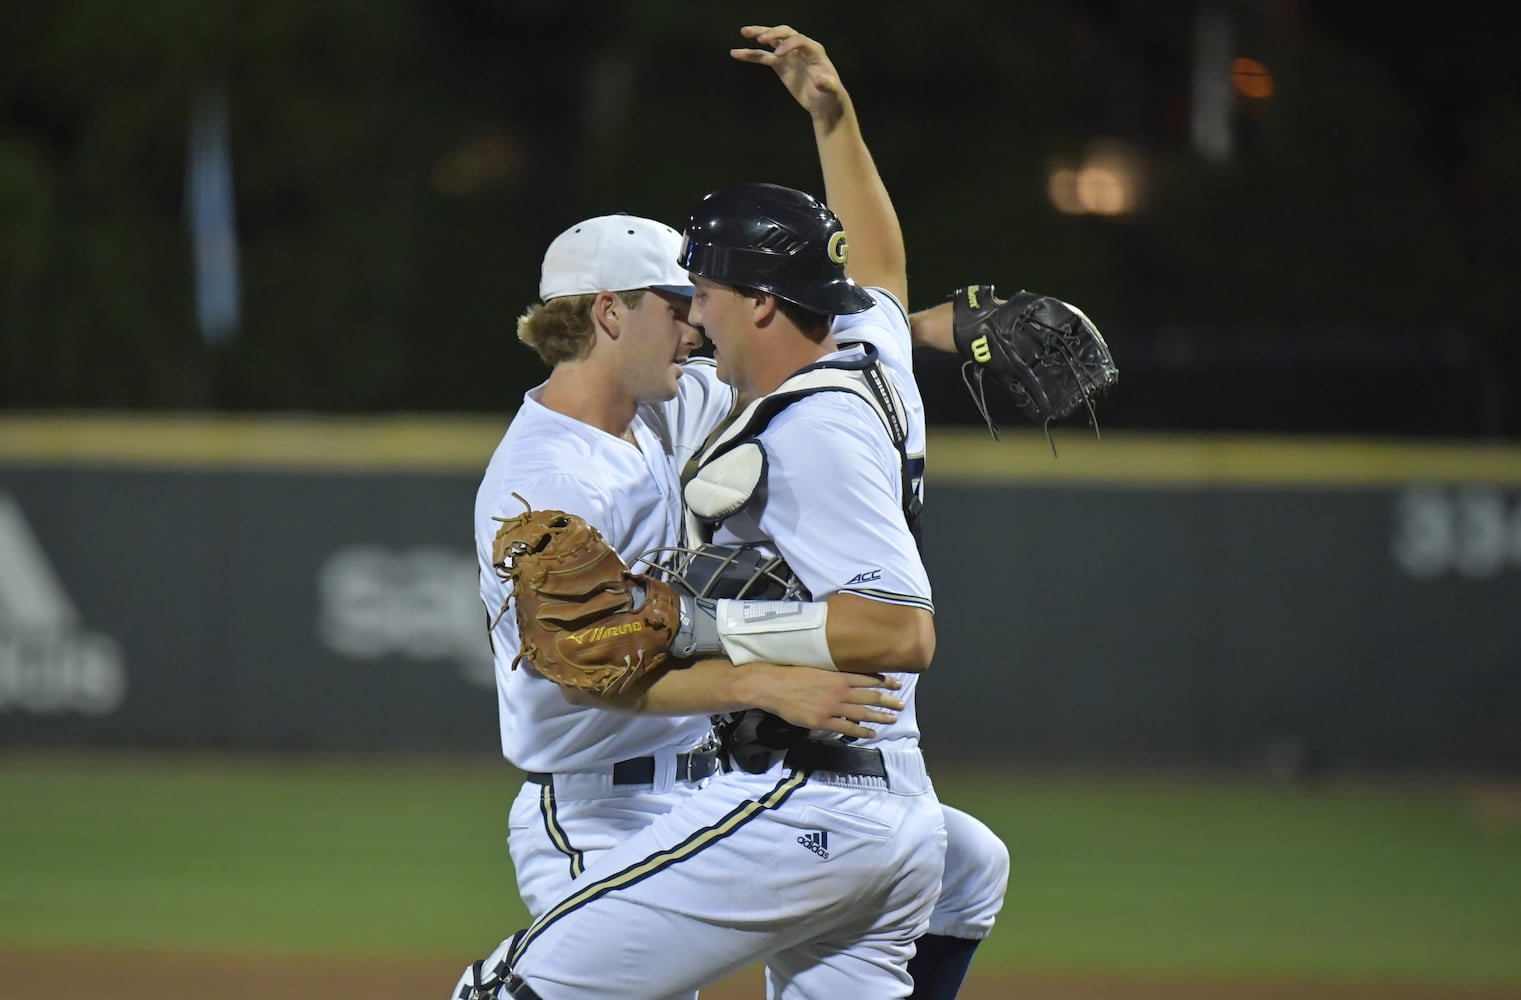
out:
M0 951L0 995L14 1000L444 1000L459 974L441 960L359 960L144 953ZM703 991L759 1000L759 971ZM1208 983L978 973L963 1000L1521 1000L1515 989L1387 983ZM850 997L841 1000L872 1000Z

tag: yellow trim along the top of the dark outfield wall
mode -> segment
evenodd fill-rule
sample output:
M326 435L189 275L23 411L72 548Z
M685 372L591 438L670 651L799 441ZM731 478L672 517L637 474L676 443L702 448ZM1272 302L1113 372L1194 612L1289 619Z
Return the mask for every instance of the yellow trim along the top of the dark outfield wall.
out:
M0 416L0 467L475 475L506 417ZM1363 487L1521 486L1521 446L1258 435L931 431L928 482Z

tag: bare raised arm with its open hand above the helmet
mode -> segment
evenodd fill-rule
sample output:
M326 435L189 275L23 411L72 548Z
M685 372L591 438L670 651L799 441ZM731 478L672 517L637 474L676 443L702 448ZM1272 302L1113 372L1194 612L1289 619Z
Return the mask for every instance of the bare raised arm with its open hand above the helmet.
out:
M759 49L732 49L741 62L770 65L814 120L824 201L849 237L846 274L861 285L887 289L908 304L908 257L903 230L872 152L861 135L855 104L824 47L786 24L739 29Z

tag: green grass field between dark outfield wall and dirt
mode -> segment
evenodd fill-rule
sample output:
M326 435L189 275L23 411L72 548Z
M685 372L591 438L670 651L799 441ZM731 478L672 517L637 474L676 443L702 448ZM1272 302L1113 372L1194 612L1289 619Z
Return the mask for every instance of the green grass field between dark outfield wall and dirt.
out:
M937 785L1013 855L975 976L1521 995L1513 790L957 772ZM458 967L523 919L502 845L514 788L505 766L461 761L0 756L0 951Z

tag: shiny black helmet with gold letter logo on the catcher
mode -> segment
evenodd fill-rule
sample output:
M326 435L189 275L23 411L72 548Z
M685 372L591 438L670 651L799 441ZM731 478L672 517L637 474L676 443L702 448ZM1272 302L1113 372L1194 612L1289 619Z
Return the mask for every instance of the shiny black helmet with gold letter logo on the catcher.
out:
M779 184L733 184L698 202L678 263L824 315L875 303L846 277L846 231L829 205Z

